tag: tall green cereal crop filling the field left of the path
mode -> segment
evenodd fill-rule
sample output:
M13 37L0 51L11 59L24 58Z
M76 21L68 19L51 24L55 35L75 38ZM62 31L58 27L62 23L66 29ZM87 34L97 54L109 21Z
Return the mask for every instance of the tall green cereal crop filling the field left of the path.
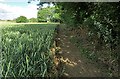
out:
M15 25L2 29L2 75L50 77L54 29L54 24Z

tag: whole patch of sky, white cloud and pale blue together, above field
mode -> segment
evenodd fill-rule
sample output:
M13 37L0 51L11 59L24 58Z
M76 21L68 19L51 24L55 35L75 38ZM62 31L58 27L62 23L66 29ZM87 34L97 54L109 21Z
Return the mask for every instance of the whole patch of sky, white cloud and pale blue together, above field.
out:
M37 17L38 2L27 3L28 0L0 0L0 19L8 20L19 16Z

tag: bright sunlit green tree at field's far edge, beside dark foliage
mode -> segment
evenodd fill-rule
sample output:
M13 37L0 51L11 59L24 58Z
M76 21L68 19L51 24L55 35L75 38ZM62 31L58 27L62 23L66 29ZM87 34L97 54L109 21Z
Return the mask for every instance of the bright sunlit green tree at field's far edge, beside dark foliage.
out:
M55 7L41 8L37 14L38 22L59 22L59 13L55 12Z

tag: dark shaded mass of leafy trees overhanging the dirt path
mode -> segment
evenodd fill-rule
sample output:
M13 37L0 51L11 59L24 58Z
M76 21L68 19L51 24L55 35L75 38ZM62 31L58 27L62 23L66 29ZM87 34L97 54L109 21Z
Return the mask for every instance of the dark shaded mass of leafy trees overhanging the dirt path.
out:
M119 44L119 3L56 3L64 23L85 26L111 49ZM73 5L73 6L70 6Z

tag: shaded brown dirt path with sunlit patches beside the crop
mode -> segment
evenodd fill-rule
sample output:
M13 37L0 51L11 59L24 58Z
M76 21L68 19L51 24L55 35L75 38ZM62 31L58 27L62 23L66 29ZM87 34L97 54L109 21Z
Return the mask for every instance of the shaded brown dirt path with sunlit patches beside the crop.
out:
M101 77L102 72L94 64L80 56L79 49L70 42L71 34L64 28L59 29L61 61L64 63L64 75L67 77Z

